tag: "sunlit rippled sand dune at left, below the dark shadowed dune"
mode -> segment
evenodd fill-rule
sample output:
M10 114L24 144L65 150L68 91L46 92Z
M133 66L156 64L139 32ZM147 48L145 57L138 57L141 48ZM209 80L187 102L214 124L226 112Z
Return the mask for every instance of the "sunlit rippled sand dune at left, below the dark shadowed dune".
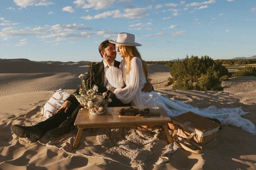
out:
M0 96L21 92L77 89L78 73L7 73L0 74Z

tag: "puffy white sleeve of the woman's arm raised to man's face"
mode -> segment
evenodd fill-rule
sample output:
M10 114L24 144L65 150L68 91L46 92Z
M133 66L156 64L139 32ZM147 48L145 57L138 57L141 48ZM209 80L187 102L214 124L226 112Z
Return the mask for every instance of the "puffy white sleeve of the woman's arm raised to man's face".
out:
M106 71L106 78L108 82L115 88L124 87L123 72L114 66L111 66Z

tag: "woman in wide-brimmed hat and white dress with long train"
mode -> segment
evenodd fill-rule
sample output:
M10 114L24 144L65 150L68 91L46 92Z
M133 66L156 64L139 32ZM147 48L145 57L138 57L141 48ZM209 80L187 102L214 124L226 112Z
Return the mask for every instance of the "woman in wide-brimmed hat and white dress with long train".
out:
M143 106L146 102L141 97L141 88L148 81L148 70L146 63L142 60L136 46L141 44L135 42L135 36L129 33L119 33L116 41L109 41L116 44L117 52L124 59L120 63L120 68L111 66L106 56L104 61L108 64L106 77L111 85L116 89L112 92L123 103L131 102L132 106ZM121 88L126 85L124 88ZM154 92L152 92L154 93ZM149 105L154 105L153 100L148 101ZM156 105L161 105L169 116L177 116L188 111L194 112L204 117L216 118L223 125L232 125L241 127L255 135L255 125L249 120L241 118L240 115L246 115L241 107L221 108L210 106L204 109L198 109L181 101L170 100L163 96L156 99ZM170 109L168 107L172 107Z

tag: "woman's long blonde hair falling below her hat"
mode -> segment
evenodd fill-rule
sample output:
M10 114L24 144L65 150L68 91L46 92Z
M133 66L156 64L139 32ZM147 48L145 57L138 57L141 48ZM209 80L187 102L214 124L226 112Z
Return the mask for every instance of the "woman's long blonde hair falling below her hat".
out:
M146 77L146 81L149 82L148 80L148 68L147 68L147 63L145 61L142 60L141 56L140 56L140 52L138 51L138 49L135 46L125 46L125 45L121 45L124 51L124 59L126 62L126 67L127 70L125 72L124 76L127 76L128 73L131 71L131 60L133 57L138 57L141 62L142 62L142 69L144 72L144 75Z

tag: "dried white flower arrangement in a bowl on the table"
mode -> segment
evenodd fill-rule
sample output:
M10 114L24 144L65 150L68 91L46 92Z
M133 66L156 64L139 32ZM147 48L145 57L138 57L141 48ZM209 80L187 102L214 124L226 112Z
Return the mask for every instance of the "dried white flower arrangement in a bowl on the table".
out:
M80 105L89 112L100 113L106 110L108 113L112 113L112 107L108 107L108 103L112 101L110 98L111 93L108 95L107 91L101 94L98 92L97 85L94 85L91 89L89 89L90 84L88 85L88 82L84 80L84 76L84 74L80 74L78 76L78 78L82 80L82 84L80 85L79 94L75 95Z

